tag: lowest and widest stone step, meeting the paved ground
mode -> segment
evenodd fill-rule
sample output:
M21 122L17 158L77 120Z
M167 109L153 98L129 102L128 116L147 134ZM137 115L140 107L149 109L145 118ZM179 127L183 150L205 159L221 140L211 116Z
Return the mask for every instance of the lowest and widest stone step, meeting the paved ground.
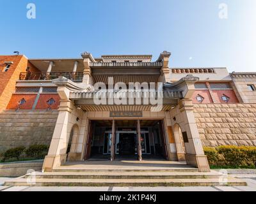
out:
M33 182L33 183L32 183ZM24 178L6 181L4 186L246 186L246 182L228 178L219 179L36 179Z

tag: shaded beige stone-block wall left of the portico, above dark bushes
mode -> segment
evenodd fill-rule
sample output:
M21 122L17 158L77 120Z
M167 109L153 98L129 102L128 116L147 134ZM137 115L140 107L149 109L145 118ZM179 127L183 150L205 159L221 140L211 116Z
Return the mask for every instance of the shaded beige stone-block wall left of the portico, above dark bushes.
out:
M58 111L0 113L0 153L12 147L50 145Z

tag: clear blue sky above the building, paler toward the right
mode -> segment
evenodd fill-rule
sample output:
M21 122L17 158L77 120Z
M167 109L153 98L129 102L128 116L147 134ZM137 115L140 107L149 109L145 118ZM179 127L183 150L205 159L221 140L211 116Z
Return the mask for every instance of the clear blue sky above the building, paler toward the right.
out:
M26 17L35 3L36 19ZM219 18L219 4L228 19ZM172 52L171 67L256 71L255 0L0 0L0 54L29 58Z

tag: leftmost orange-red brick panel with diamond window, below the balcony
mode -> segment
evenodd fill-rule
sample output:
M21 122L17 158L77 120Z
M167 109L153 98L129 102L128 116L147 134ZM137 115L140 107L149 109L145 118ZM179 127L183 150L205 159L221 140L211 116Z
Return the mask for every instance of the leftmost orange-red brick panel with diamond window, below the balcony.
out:
M16 110L19 107L19 101L22 98L26 100L26 103L20 106L20 110L31 110L36 99L36 94L13 94L6 109Z

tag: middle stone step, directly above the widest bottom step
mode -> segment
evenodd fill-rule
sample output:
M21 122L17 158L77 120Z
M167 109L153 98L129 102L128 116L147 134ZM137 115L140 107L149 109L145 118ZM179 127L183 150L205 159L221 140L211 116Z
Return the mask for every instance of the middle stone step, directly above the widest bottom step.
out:
M36 179L218 179L221 175L212 172L45 172L33 173ZM25 179L31 174L25 175Z

